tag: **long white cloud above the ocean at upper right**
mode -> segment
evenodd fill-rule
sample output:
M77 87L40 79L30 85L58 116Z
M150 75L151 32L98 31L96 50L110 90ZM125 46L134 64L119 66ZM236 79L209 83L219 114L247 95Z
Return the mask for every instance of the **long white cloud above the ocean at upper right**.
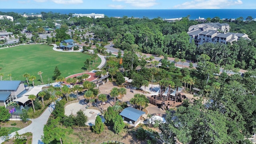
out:
M174 8L180 9L218 9L243 4L242 0L192 0L178 4Z

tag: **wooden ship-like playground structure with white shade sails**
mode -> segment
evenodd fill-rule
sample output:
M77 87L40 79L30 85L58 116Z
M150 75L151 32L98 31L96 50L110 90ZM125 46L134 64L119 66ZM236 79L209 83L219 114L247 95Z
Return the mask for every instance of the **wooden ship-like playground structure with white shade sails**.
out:
M165 90L164 90L165 89ZM158 105L163 110L180 106L186 96L182 93L182 88L176 89L159 88L154 94L148 94L150 104Z

